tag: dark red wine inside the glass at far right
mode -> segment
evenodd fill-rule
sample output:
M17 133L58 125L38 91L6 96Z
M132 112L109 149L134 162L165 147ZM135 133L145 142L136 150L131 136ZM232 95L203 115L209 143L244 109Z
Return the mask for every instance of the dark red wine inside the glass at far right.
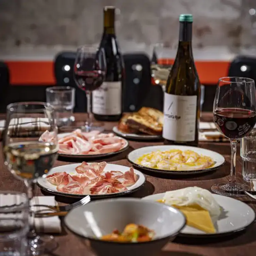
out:
M229 139L241 139L254 128L256 112L247 109L225 108L215 110L213 119L218 130Z

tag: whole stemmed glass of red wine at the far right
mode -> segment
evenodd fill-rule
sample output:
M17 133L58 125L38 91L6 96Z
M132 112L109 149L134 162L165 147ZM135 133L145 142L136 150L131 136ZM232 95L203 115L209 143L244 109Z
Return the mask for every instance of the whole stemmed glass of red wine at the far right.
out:
M213 120L217 129L230 140L231 169L228 183L212 186L212 191L225 196L241 196L246 185L236 181L236 149L239 139L249 134L256 123L256 92L254 80L243 77L219 79L214 103Z

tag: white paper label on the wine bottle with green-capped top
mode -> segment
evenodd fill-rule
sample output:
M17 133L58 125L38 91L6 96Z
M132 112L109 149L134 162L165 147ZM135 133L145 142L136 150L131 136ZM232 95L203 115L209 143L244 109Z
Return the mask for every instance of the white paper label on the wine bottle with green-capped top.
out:
M194 141L197 96L164 93L163 138L171 141Z

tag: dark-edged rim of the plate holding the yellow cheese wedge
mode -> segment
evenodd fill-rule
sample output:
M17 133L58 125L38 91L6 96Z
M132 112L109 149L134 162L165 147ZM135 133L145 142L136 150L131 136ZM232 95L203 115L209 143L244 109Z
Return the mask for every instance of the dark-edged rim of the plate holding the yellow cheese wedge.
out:
M157 194L152 194L152 195L160 195L160 194L165 194L165 192L157 193ZM217 197L228 197L228 196L218 195L218 194L214 194L214 193L211 193L211 194L213 196L217 196ZM149 196L152 196L152 195L144 196L144 197L141 198L141 200L147 200L146 197L149 197ZM240 200L235 199L233 197L228 197L228 198L234 199L236 201L239 201L242 204L245 204L243 201L240 201ZM247 205L247 204L245 204L245 205L248 206L249 208L251 208L251 210L252 210L252 212L254 214L254 218L253 218L251 223L249 223L248 225L246 225L244 227L241 227L241 228L233 230L233 231L226 231L226 232L214 233L214 234L209 234L209 233L205 233L205 234L192 234L192 233L181 233L180 232L178 234L178 236L180 236L180 237L191 237L191 238L204 238L204 239L207 239L207 238L218 238L218 237L235 235L235 234L237 234L239 232L242 232L242 231L244 231L246 229L249 229L249 228L251 228L256 223L256 213L255 213L254 209L250 205Z

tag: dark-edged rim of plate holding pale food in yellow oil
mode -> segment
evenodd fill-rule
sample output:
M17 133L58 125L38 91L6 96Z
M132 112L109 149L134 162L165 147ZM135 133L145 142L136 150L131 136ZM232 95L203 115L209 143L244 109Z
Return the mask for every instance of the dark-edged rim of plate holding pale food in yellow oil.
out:
M161 146L181 146L181 145L161 145ZM138 164L138 163L135 163L135 162L133 162L131 159L129 159L129 155L132 153L132 152L134 152L134 151L136 151L136 150L140 150L140 149L142 149L142 148L147 148L147 147L158 147L158 145L154 145L154 146L146 146L146 147L141 147L141 148L137 148L137 149L134 149L134 150L132 150L128 155L127 155L127 160L132 164L132 165L134 165L134 166L137 166L137 167L139 167L139 168L141 168L141 169L145 169L145 170L148 170L148 171L151 171L151 172L155 172L155 173L162 173L162 174L170 174L170 175L186 175L186 174L199 174L199 173L206 173L206 172L211 172L211 171L214 171L214 170L217 170L217 169L219 169L221 166L223 166L225 163L226 163L226 160L225 160L225 157L223 157L220 153L218 153L218 152L215 152L215 151L212 151L212 150L210 150L210 149L206 149L206 148L202 148L202 149L204 149L204 150L208 150L208 151L212 151L212 152L214 152L215 154L218 154L218 155L220 155L223 159L224 159L224 161L223 161L223 163L221 163L220 165L218 165L218 166L213 166L213 167L210 167L210 168L206 168L206 169L201 169L201 170L191 170L191 171L168 171L168 170L163 170L163 169L155 169L155 168L151 168L151 167L147 167L147 166L143 166L143 165L140 165L140 164ZM193 146L181 146L181 147L192 147L192 148L200 148L200 147L193 147Z

